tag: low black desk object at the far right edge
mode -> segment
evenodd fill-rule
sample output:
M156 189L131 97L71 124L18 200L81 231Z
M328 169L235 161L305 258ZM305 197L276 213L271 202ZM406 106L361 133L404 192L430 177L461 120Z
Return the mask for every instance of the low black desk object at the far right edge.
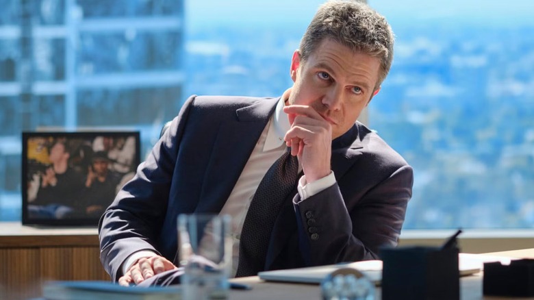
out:
M484 264L483 294L492 296L534 297L534 260L513 260Z

